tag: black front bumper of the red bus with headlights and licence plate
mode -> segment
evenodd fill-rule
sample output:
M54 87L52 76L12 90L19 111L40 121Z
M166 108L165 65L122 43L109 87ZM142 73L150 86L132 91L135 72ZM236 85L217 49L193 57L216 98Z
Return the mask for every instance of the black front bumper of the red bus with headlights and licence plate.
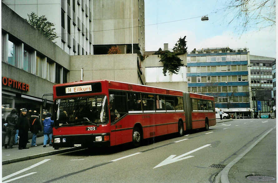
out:
M110 133L53 135L53 147L110 146Z

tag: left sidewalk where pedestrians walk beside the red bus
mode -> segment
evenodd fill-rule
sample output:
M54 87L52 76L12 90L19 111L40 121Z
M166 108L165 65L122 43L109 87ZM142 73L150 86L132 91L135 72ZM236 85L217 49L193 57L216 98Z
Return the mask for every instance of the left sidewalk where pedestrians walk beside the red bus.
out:
M71 147L54 150L54 148L48 144L46 147L43 147L43 136L41 136L41 134L39 134L39 136L40 137L37 137L37 146L35 147L31 147L32 138L29 139L30 143L27 143L26 146L29 147L29 149L18 150L18 145L12 146L12 149L5 149L5 147L2 146L2 165L80 149L78 147Z

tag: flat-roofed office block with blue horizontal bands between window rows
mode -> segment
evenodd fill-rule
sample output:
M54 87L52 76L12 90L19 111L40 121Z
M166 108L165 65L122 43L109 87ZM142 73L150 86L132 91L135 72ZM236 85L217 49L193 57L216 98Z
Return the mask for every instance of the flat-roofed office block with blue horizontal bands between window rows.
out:
M188 92L215 97L215 106L236 118L251 115L247 49L202 48L187 54Z

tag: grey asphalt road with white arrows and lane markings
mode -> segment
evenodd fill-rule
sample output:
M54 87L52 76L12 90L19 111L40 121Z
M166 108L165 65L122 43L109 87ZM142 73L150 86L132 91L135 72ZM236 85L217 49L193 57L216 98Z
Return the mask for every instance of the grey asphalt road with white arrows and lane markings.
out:
M93 151L85 149L12 163L2 166L2 181L217 182L221 174L225 176L227 168L224 171L210 166L231 165L248 151L253 159L242 161L243 156L229 168L229 175L226 172L231 182L242 182L240 180L246 179L252 171L249 165L255 161L258 164L258 158L267 161L261 161L257 171L276 161L276 156L269 156L273 155L273 149L266 148L275 147L276 138L265 140L271 134L276 135L275 126L275 119L233 120L217 123L209 131L191 131L183 137L167 135L149 139L138 148L122 145ZM254 142L264 149L258 149L256 145L249 151ZM256 157L258 151L262 151L260 157ZM276 175L276 164L271 166L270 171Z

